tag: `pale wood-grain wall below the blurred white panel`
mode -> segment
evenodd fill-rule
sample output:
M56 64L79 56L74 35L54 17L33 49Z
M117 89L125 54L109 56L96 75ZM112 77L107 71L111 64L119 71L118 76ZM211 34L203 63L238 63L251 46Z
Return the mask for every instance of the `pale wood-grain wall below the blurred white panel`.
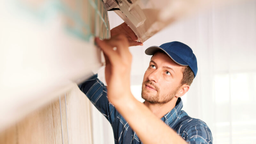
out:
M90 111L90 101L74 86L52 103L1 132L0 143L92 144Z

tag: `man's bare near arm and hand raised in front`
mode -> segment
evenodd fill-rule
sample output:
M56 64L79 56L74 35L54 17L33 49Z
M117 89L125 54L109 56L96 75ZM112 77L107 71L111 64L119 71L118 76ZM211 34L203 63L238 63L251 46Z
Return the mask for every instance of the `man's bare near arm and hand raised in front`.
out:
M132 55L125 36L110 40L95 39L106 60L105 77L108 99L129 123L143 143L186 143L175 131L158 119L130 90ZM113 48L116 47L116 50Z

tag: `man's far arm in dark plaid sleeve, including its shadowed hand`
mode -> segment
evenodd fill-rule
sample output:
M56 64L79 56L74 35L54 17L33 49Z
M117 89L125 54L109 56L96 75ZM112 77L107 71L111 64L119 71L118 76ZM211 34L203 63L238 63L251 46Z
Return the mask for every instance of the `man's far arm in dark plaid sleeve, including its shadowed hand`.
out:
M129 41L129 46L143 45L137 42L138 37L132 29L124 22L119 26L110 30L111 37L118 34L124 34ZM109 103L107 98L106 86L97 78L97 74L90 77L79 85L79 88L90 99L92 104L108 119L112 124L116 116L119 114L115 107Z

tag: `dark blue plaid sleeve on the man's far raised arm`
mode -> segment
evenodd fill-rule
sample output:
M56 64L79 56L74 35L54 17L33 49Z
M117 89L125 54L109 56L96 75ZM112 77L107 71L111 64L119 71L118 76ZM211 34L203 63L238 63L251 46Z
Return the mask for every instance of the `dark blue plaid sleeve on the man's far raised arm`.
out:
M108 101L107 88L97 77L98 74L93 75L82 84L78 85L78 87L84 92L92 104L108 119L110 124L112 124L119 113Z

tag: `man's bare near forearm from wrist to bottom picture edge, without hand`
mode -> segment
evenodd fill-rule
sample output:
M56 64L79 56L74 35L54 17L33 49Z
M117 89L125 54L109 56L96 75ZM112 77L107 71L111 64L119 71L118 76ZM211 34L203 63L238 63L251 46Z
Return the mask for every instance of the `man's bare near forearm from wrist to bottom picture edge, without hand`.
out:
M124 99L113 100L113 104L143 143L186 143L132 94Z

